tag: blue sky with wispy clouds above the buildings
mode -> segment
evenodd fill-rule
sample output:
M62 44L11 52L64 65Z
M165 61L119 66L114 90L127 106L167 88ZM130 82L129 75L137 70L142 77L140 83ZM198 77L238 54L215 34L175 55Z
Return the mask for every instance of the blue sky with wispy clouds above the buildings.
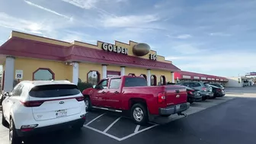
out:
M256 71L255 0L2 0L0 44L11 30L69 42L144 42L190 72Z

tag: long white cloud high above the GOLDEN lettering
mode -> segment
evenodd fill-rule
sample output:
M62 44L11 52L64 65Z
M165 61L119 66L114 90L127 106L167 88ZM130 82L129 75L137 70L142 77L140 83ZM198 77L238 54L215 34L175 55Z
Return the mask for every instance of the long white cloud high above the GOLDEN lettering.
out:
M120 17L102 15L101 17L101 23L104 27L139 27L154 21L158 21L158 17L152 14Z

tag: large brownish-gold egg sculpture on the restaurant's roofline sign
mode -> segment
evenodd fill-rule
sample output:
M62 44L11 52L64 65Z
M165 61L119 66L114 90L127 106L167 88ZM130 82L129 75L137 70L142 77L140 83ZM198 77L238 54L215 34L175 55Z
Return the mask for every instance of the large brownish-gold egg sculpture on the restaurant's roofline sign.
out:
M136 56L145 56L150 51L150 46L146 43L138 43L133 46L133 54Z

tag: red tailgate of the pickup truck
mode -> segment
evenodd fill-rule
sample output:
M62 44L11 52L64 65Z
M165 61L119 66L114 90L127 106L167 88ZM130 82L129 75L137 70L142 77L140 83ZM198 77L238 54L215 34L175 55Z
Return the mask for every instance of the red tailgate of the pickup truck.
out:
M165 87L167 106L187 102L187 91L183 86L171 85Z

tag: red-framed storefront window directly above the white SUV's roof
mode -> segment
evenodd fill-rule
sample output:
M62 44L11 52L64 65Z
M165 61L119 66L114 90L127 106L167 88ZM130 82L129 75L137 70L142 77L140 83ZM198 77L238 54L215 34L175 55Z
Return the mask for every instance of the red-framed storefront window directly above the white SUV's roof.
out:
M40 68L33 72L33 80L35 81L50 81L54 79L54 73L48 68Z

